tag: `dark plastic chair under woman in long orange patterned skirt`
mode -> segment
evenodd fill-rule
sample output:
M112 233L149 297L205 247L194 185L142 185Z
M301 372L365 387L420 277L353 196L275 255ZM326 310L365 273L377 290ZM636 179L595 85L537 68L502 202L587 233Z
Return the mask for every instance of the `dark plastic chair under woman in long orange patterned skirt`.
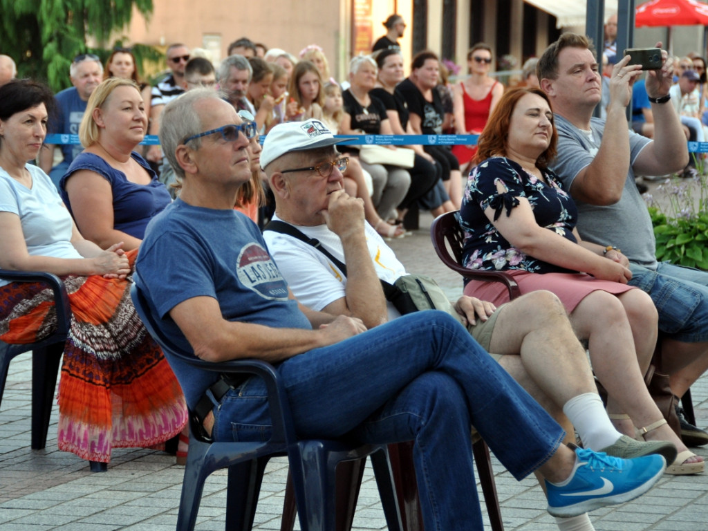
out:
M45 282L54 292L57 308L57 328L46 338L35 343L18 345L0 341L0 402L5 390L10 360L16 355L32 350L32 449L41 450L47 445L52 402L57 386L59 362L64 353L72 311L64 284L51 273L0 270L0 279L11 282Z

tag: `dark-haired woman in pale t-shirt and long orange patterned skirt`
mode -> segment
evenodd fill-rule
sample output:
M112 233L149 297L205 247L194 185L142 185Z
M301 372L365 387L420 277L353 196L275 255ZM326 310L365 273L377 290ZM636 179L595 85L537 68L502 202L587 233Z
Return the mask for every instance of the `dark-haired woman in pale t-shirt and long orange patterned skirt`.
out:
M53 105L51 91L33 81L0 87L0 268L54 273L67 287L73 319L59 382L59 450L105 469L113 447L153 447L180 433L187 410L132 307L127 275L137 250L84 239L50 178L27 164L42 148ZM33 343L54 325L46 285L0 281L0 341Z

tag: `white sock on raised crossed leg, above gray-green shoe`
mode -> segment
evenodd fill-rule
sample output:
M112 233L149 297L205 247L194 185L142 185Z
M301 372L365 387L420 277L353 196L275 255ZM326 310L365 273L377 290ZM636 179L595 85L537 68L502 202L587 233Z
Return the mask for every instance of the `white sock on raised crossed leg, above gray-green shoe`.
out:
M563 412L578 430L583 447L590 450L602 450L622 437L622 433L612 426L610 418L607 417L599 394L583 393L573 396L563 406Z

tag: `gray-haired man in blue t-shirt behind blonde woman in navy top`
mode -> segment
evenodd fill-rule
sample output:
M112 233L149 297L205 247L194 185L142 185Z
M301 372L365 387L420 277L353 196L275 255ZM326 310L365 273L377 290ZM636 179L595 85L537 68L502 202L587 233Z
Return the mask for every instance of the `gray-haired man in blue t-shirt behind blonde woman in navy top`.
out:
M103 80L103 65L98 55L80 54L74 57L72 66L69 67L69 79L72 87L57 93L57 116L50 120L47 129L58 135L78 135L81 118L84 118L86 103L89 96ZM69 169L74 157L84 149L80 144L62 144L63 159L56 166L54 165L54 148L52 144L47 144L48 149L40 151L40 168L47 173L52 182L59 188L59 180Z

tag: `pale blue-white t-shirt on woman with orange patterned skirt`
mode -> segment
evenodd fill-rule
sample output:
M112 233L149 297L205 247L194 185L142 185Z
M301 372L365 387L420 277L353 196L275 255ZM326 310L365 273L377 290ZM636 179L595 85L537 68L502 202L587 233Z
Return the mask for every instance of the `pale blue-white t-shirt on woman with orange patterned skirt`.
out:
M32 175L32 188L18 183L0 168L0 212L12 212L20 217L30 255L81 258L71 242L72 216L54 183L37 166L25 167ZM0 286L8 283L0 280Z

